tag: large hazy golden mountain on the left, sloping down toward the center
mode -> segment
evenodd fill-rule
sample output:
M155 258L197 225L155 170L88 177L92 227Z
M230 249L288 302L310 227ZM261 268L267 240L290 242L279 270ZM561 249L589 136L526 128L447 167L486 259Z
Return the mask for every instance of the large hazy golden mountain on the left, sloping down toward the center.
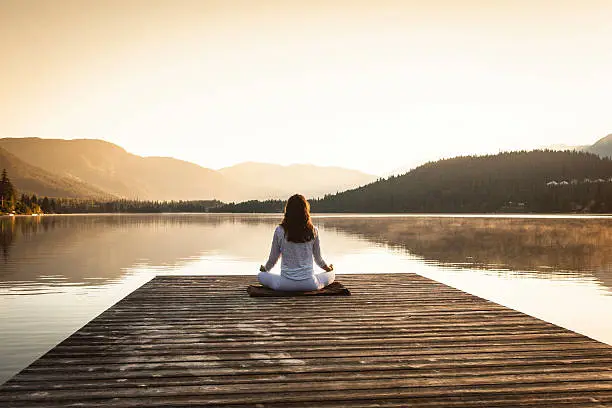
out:
M214 170L173 158L137 156L102 140L6 138L0 139L0 147L49 172L125 198L235 200L248 198L251 190Z

